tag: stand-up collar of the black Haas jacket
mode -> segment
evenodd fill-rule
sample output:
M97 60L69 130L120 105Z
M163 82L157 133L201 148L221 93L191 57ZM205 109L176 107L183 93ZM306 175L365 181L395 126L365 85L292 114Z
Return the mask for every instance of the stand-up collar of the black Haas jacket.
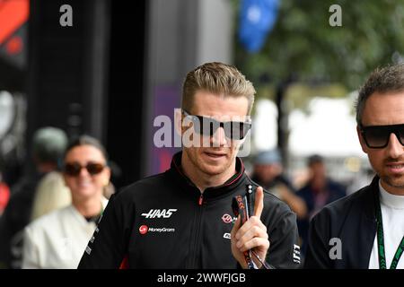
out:
M168 172L171 174L173 178L175 178L176 182L180 184L187 192L191 192L191 194L195 194L196 196L201 196L201 193L198 187L183 173L181 169L181 157L182 152L177 152L174 154L171 160L171 169ZM203 197L206 201L212 199L218 199L229 194L232 194L237 187L240 187L242 183L245 181L246 174L244 172L244 164L242 160L236 157L236 173L226 180L223 185L218 187L207 187L203 192Z

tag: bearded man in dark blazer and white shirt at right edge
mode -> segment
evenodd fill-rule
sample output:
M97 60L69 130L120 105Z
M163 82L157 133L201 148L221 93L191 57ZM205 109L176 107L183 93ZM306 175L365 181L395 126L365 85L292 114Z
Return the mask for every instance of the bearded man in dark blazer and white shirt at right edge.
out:
M359 91L356 122L376 176L312 219L304 266L404 269L404 65L370 75Z

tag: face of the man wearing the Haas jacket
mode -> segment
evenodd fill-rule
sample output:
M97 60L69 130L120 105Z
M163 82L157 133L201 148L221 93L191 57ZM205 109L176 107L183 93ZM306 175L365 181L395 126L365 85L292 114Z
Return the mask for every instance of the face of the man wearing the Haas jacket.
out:
M192 115L213 117L218 121L245 120L248 100L245 97L220 97L208 91L197 91L193 106L188 111ZM183 129L186 130L187 128ZM201 141L210 144L184 147L185 161L190 161L197 172L207 175L226 174L234 169L235 156L240 142L224 136L224 128L219 127L213 136L201 135ZM207 146L206 146L207 145Z

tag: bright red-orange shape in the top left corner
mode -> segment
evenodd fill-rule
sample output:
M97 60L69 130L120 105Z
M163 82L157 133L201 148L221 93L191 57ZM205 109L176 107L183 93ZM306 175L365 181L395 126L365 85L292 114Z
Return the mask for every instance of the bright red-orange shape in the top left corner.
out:
M0 45L27 22L29 15L29 0L0 0Z

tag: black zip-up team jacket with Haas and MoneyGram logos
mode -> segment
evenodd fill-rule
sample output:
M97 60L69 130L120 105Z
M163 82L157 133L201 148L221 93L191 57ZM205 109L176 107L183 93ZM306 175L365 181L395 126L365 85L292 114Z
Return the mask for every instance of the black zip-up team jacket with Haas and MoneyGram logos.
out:
M237 173L201 195L181 172L180 160L179 152L170 170L111 196L79 268L236 268L230 241L232 198L245 195L246 185L257 185L237 158ZM298 267L295 214L264 192L261 221L268 228L268 264Z

